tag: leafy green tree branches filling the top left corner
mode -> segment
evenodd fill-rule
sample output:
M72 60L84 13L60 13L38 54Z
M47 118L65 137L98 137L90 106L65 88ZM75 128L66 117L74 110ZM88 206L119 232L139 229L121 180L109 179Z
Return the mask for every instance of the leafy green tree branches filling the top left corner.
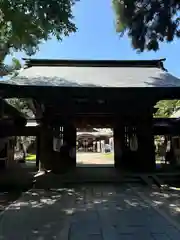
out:
M0 62L10 51L33 55L38 45L76 31L72 7L77 0L0 0Z

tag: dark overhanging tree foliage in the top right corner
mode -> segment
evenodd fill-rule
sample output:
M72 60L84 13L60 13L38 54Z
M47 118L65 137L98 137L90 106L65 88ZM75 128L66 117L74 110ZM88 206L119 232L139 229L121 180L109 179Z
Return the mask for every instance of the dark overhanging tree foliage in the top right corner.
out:
M156 51L159 43L180 36L178 0L112 0L117 32L128 32L132 46L140 52Z

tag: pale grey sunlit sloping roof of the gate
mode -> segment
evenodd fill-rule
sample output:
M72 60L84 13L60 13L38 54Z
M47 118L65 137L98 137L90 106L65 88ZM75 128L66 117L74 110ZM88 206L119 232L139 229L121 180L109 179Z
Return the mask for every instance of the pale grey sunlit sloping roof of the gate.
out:
M157 64L141 63L141 66L133 61L126 66L118 65L116 61L116 64L108 66L105 63L32 64L6 83L62 87L180 87L180 80Z

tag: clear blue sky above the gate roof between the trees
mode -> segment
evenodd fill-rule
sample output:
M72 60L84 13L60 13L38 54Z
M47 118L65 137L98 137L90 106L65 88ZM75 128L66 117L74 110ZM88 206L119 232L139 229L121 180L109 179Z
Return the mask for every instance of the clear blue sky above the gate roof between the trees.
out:
M180 39L172 43L163 43L157 52L138 54L131 47L127 36L122 38L115 31L112 0L80 0L74 9L74 21L78 28L75 34L58 42L49 40L39 46L39 51L32 58L48 59L115 59L143 60L166 58L165 68L180 77L178 52ZM24 53L15 53L21 59ZM12 57L7 57L10 62Z

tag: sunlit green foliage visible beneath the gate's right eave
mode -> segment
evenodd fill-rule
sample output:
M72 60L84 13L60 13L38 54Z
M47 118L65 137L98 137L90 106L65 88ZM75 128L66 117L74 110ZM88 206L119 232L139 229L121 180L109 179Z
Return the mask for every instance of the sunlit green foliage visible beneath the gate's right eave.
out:
M180 100L162 100L155 107L158 110L154 117L170 117L180 107Z

